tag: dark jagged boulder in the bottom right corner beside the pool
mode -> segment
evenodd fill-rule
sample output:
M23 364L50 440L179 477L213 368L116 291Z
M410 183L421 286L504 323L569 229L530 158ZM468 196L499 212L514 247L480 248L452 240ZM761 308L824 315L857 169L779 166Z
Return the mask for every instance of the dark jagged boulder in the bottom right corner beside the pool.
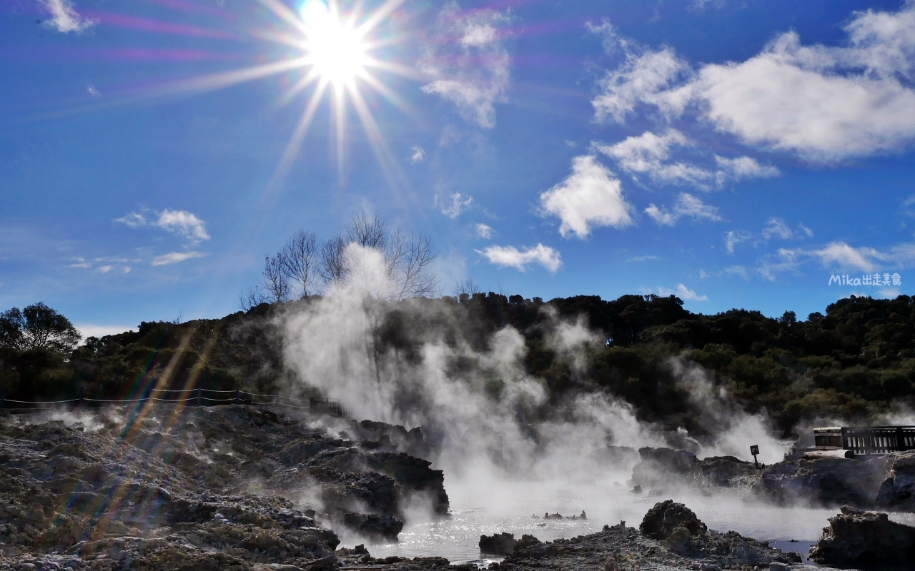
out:
M915 527L890 522L886 513L842 507L829 518L823 537L813 545L817 563L850 566L875 563L915 564Z

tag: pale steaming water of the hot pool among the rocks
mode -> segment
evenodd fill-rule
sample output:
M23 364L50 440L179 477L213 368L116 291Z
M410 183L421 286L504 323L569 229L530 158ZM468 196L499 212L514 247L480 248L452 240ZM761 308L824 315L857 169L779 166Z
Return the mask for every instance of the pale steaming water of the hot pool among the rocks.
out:
M593 534L605 523L625 521L638 527L642 517L656 502L673 499L684 502L710 528L717 531L734 530L739 534L759 540L769 540L785 551L795 551L804 556L819 539L827 518L838 510L804 506L777 507L760 502L744 502L737 494L714 496L694 495L687 492L659 496L635 496L623 488L587 485L544 485L543 483L516 483L490 490L451 489L451 516L435 521L408 523L400 534L400 543L369 545L372 556L399 555L419 557L439 555L452 563L499 561L500 558L483 559L479 554L480 534L508 532L520 538L532 534L541 541L560 537ZM587 521L534 519L543 518L544 512L564 516L587 512ZM891 516L900 523L915 523L915 514ZM362 543L358 537L344 537L342 546L352 547ZM789 543L789 540L797 543Z

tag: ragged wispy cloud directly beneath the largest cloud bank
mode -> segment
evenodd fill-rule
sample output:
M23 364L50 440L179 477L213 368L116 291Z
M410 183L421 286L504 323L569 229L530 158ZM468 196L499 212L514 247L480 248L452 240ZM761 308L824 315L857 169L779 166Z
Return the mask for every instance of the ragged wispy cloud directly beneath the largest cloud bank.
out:
M726 158L715 155L715 164L701 166L694 162L673 161L674 148L694 150L694 143L684 133L668 129L658 135L650 131L627 137L616 144L594 143L593 148L614 159L624 171L647 174L651 180L664 184L686 184L708 190L711 183L718 186L743 178L769 177L779 174L774 166L759 164L748 156Z

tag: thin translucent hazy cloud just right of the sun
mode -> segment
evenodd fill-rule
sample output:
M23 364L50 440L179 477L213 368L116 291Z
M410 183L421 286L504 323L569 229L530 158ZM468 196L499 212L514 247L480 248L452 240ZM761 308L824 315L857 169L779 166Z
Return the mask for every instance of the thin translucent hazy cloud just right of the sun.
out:
M422 90L454 103L466 121L494 127L494 104L505 100L511 80L511 56L501 41L509 20L507 13L461 12L457 3L448 4L418 62L432 79Z

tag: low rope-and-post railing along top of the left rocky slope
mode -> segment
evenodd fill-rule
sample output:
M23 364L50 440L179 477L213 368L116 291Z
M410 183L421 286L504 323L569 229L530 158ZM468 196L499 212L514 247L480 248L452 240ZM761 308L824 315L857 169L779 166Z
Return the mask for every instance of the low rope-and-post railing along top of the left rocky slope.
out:
M249 393L239 389L212 390L209 388L188 388L171 390L153 388L145 397L127 399L105 399L91 397L77 397L66 400L16 400L5 398L3 389L0 389L0 411L4 414L29 414L51 410L59 407L103 407L105 405L129 405L135 403L161 402L183 403L186 406L212 407L215 405L252 405L294 408L306 410L314 414L332 415L342 417L346 410L338 400L323 397L292 398L283 395L262 395ZM11 406L12 405L12 406Z

